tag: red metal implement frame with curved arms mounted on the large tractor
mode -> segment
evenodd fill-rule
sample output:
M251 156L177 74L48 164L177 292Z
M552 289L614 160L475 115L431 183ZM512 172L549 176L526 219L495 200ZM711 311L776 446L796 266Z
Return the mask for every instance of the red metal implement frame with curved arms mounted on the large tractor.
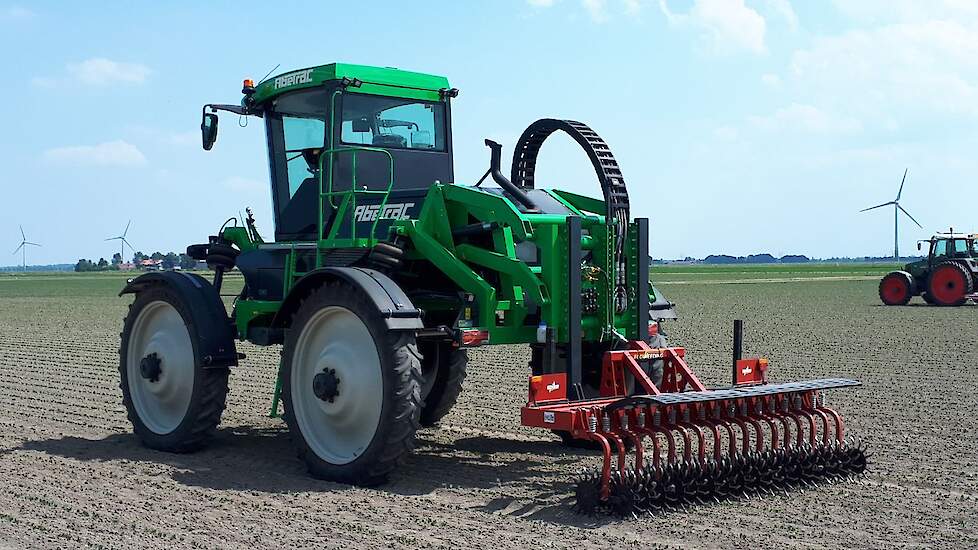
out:
M705 465L724 452L746 454L766 446L775 449L806 442L843 443L842 417L820 404L819 394L823 388L858 382L827 379L767 385L767 360L741 359L734 386L710 390L684 356L683 348L651 348L642 341L631 342L627 350L606 352L600 395L580 401L567 400L566 375L534 376L529 401L521 411L522 424L565 431L577 439L596 442L604 457L602 499L609 493L612 455L617 455L622 475L629 467L625 441L635 449L636 471L648 467L644 459L649 453L642 443L645 437L652 444L648 464L653 468L660 467L663 460ZM659 386L639 364L657 359L664 363ZM630 397L626 374L647 395Z

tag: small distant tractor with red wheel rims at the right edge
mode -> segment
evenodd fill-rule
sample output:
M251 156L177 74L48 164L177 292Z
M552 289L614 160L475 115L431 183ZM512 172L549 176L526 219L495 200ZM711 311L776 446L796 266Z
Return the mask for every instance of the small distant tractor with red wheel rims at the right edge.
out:
M969 299L978 301L978 234L938 233L929 240L927 258L888 273L880 281L880 300L888 306L902 306L913 296L937 306L960 306Z

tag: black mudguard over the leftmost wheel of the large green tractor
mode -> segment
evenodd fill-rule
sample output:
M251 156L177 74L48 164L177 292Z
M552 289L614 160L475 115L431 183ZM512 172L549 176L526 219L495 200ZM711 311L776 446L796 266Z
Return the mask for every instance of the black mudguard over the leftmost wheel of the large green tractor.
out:
M119 293L137 294L156 285L166 285L186 298L197 330L200 367L227 368L238 364L234 330L224 302L214 286L200 275L182 271L146 273L129 279Z

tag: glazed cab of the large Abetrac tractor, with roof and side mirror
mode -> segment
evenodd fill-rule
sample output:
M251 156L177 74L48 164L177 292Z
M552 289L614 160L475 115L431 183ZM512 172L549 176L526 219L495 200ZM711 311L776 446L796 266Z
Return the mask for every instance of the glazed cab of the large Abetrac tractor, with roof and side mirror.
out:
M453 179L458 91L443 77L334 63L246 81L242 92L240 108L205 106L204 146L208 108L264 119L276 241L384 234Z

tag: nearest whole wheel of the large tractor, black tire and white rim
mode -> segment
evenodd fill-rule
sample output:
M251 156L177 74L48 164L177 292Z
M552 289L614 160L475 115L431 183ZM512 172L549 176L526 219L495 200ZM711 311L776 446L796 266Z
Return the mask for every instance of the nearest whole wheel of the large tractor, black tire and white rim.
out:
M317 478L377 485L414 448L421 356L359 289L335 282L299 305L282 351L285 421Z

